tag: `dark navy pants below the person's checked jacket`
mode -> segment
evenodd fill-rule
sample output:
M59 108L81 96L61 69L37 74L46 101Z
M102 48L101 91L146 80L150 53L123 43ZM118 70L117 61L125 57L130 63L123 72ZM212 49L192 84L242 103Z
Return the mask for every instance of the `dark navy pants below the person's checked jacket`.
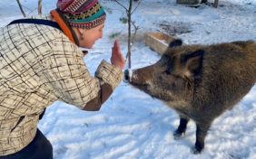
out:
M39 129L33 141L15 154L0 156L0 159L53 159L53 147Z

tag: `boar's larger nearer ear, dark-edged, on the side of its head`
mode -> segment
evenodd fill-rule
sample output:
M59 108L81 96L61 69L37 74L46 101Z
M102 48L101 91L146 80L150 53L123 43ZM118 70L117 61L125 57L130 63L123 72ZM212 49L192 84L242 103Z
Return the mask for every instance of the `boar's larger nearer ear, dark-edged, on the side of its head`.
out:
M198 50L186 56L186 76L197 76L201 73L203 54L203 50Z

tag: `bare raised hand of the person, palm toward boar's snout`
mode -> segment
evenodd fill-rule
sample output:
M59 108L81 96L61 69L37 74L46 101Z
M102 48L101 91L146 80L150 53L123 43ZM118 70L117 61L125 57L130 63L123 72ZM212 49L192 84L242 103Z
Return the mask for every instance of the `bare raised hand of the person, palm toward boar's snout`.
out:
M112 56L111 56L111 63L114 66L119 67L121 70L123 70L123 67L125 65L125 61L123 59L123 55L121 54L119 42L115 41L112 48Z

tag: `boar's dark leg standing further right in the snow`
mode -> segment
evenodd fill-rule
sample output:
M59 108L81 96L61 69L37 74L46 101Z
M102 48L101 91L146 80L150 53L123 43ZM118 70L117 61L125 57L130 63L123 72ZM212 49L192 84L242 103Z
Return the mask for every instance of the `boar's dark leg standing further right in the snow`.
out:
M204 148L204 138L210 128L211 123L196 123L196 142L194 145L194 154L200 154Z

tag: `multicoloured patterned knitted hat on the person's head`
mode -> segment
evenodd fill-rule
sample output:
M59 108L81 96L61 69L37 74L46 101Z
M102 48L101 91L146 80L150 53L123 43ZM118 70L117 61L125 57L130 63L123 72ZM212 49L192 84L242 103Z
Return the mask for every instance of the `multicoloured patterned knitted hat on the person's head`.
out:
M106 14L98 0L58 0L57 8L71 26L93 28L104 23Z

